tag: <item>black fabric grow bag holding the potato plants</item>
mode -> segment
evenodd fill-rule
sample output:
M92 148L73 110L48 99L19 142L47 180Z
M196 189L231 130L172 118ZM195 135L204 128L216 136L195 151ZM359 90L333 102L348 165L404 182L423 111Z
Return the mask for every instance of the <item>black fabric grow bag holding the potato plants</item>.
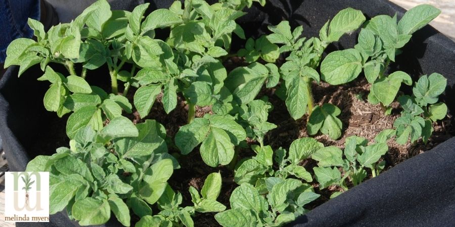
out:
M147 1L146 1L147 2ZM152 8L166 8L171 1L156 1ZM267 33L266 26L289 20L291 26L304 26L307 37L319 35L319 29L338 11L352 7L367 17L379 14L394 15L398 19L405 12L386 0L294 1L271 0L265 8L252 8L241 19L247 36ZM351 48L357 34L345 35L340 42L331 44L328 51ZM393 70L402 70L414 79L433 72L447 80L445 95L449 112L455 112L455 43L427 26L414 35L402 48L403 53L392 64ZM20 79L17 67L8 69L0 81L0 136L11 171L23 171L30 158L40 154L39 146L49 147L48 154L62 144L45 141L47 135L58 135L59 124L55 113L47 112L42 97L48 85L37 82L42 74L38 68L28 70ZM106 75L107 77L107 75ZM52 123L52 124L50 124ZM55 134L53 134L55 133ZM51 144L50 144L51 143ZM39 150L39 151L37 151ZM74 226L64 213L51 216L51 223L43 226ZM118 222L108 222L107 226ZM36 226L38 223L28 223ZM27 224L27 225L28 225ZM25 223L18 224L24 226ZM340 196L316 207L299 217L290 226L453 226L455 225L455 138L434 149L410 158L378 177L356 186Z

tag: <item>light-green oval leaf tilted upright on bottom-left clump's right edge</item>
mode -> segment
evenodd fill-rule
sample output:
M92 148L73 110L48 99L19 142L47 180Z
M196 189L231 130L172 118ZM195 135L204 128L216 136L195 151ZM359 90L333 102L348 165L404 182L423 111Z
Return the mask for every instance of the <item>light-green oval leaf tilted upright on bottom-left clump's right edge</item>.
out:
M173 172L172 160L163 159L150 166L144 173L139 195L149 204L154 204L163 194L167 180Z

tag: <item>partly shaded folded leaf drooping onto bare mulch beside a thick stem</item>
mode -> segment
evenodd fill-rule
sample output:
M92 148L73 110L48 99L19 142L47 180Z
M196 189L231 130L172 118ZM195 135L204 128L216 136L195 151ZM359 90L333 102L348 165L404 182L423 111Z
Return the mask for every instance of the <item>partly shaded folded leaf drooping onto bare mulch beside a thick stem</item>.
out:
M315 135L321 130L333 140L340 138L342 123L337 118L340 114L341 110L330 103L324 103L322 107L314 107L307 124L308 134Z

